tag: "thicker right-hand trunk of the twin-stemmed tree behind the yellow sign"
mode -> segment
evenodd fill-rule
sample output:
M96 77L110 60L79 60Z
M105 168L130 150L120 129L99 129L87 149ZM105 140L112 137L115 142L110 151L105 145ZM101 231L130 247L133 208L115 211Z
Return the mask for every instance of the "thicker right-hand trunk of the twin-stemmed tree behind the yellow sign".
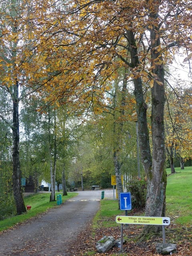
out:
M164 66L160 38L158 36L158 8L159 1L154 1L154 6L149 6L152 29L151 40L151 67L154 75L154 86L151 88L152 112L152 169L148 172L148 189L146 200L146 216L165 216L166 210L166 154L164 133ZM155 10L156 9L156 10ZM157 50L158 49L158 50ZM146 225L145 232L157 232L159 226L149 228Z

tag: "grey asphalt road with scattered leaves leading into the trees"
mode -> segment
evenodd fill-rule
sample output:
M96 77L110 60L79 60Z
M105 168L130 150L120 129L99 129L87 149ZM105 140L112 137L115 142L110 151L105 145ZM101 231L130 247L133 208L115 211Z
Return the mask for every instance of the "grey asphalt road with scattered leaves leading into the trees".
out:
M113 190L104 190L113 198ZM0 256L70 256L68 248L99 209L101 190L78 196L34 220L0 234Z

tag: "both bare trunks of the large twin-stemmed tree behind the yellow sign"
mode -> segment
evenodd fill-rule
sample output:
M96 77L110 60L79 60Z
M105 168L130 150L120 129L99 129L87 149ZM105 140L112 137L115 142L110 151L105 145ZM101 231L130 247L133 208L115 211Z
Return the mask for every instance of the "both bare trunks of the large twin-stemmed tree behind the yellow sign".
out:
M158 8L158 5L157 5ZM149 6L150 10L150 6ZM138 133L140 141L141 161L147 177L146 216L165 216L165 192L166 192L166 168L165 168L165 143L164 143L164 67L158 38L158 26L156 26L157 12L150 12L153 20L153 28L150 30L152 73L155 74L154 86L151 90L152 96L152 158L150 151L149 132L147 124L142 80L140 76L134 78L134 95L136 98L138 115ZM134 32L127 30L127 38L130 47L131 67L139 70L139 59ZM157 47L157 48L156 48ZM156 64L157 63L157 64ZM152 159L152 160L151 160ZM146 225L144 234L158 231L158 226Z

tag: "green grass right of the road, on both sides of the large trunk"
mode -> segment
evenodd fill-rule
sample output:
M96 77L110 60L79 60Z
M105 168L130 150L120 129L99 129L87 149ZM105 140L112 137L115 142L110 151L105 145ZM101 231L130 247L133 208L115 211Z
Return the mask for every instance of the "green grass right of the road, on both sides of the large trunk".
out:
M192 226L192 167L175 169L176 173L171 175L170 169L167 169L166 216L175 224ZM109 221L110 217L115 220L117 215L125 215L125 211L118 210L117 200L101 201L100 211L94 219L94 227L97 223L102 226L119 225L115 221Z

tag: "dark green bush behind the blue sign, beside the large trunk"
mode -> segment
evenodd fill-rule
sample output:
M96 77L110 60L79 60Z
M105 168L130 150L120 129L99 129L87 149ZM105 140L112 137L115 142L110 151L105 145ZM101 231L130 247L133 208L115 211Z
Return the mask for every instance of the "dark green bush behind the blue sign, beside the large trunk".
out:
M140 209L145 207L147 182L144 178L129 180L126 185L127 191L131 193L132 208Z

